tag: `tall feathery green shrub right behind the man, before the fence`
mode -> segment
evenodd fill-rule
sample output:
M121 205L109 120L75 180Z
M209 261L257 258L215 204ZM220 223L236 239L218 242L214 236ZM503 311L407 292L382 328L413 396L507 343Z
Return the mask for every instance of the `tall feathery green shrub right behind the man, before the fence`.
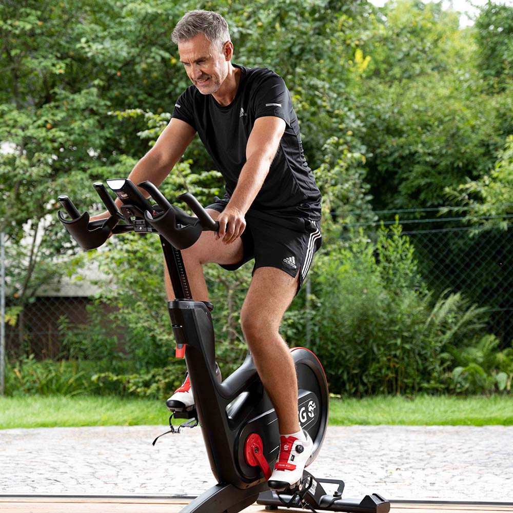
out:
M442 391L444 345L483 327L483 309L460 294L431 306L398 224L382 228L377 243L360 232L321 254L312 291L312 348L336 393Z

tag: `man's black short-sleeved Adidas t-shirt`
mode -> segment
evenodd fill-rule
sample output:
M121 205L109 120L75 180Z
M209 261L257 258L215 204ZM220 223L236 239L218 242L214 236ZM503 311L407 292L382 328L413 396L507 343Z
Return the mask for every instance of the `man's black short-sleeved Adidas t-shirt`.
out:
M235 190L246 163L255 120L263 116L283 119L286 128L280 147L251 209L319 220L321 193L303 154L298 117L283 78L265 68L236 67L241 77L230 105L220 105L211 94L202 94L191 85L176 101L172 117L198 132L226 182L226 198Z

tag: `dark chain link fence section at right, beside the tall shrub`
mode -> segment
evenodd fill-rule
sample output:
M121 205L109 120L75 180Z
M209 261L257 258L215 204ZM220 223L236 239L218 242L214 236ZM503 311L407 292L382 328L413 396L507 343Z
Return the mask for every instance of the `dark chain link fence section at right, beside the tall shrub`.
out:
M419 272L434 297L447 290L461 292L485 309L488 330L508 344L513 339L513 224L491 224L498 216L482 216L474 218L482 225L469 226L463 217L447 216L446 210L384 210L374 212L377 221L345 228L347 235L360 228L376 233L381 225L399 223L415 248Z

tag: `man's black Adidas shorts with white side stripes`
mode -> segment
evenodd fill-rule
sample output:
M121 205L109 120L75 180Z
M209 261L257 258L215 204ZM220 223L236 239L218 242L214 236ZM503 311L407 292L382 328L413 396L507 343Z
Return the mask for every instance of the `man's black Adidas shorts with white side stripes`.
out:
M216 199L206 208L222 212L228 201ZM313 254L321 247L321 223L303 218L280 218L266 212L248 210L246 229L241 235L244 246L242 260L221 265L233 271L249 260L255 260L251 274L259 267L276 267L292 277L299 274L298 291L303 285Z

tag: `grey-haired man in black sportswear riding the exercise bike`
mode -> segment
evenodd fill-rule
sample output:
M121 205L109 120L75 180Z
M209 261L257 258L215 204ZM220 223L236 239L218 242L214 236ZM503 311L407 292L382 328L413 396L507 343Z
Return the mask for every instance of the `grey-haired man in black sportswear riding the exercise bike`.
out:
M190 11L172 40L193 85L178 98L168 126L129 178L159 186L198 132L225 179L225 197L207 207L219 233L203 232L183 257L196 301L209 299L202 264L232 270L255 260L241 325L277 411L281 452L269 486L283 489L301 479L312 441L299 426L294 363L279 327L321 245L321 194L303 155L284 81L268 69L231 63L225 19ZM171 300L167 270L165 282ZM167 404L193 404L188 378Z

